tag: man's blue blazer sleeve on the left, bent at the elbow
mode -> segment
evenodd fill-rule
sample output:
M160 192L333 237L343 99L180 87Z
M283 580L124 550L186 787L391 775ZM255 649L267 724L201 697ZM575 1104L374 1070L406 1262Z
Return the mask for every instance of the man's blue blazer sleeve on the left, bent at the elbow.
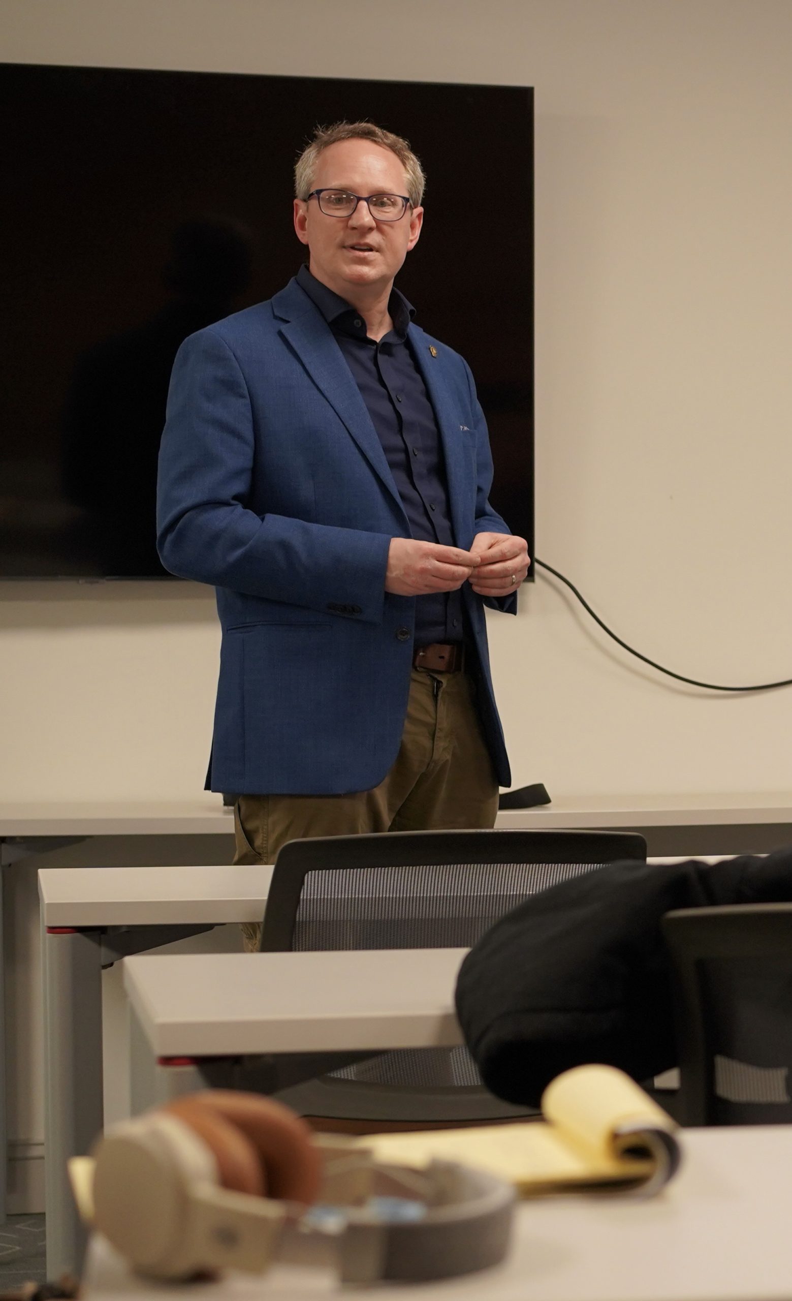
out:
M378 623L390 537L246 505L254 420L234 353L212 328L182 343L157 476L157 549L179 578ZM355 609L349 609L354 606Z

